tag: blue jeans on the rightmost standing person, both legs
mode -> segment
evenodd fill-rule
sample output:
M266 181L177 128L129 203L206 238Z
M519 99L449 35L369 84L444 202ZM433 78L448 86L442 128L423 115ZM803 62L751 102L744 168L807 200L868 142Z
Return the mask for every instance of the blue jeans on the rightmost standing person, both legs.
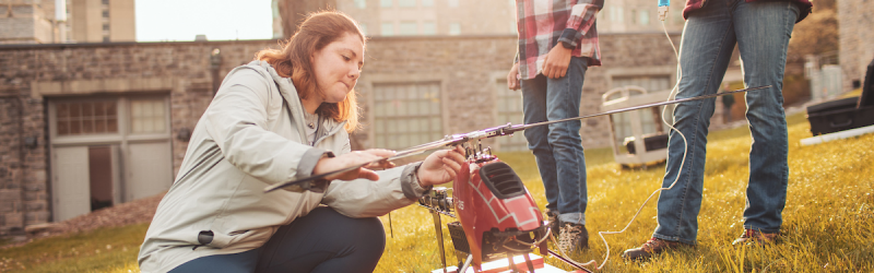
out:
M789 176L782 80L789 37L799 8L789 1L710 0L693 12L683 29L682 79L676 98L713 94L731 61L735 44L741 51L746 86L771 85L746 93L746 119L753 136L744 228L780 230ZM674 109L663 187L680 179L659 197L656 238L697 244L698 212L704 189L705 155L716 98L683 103Z

